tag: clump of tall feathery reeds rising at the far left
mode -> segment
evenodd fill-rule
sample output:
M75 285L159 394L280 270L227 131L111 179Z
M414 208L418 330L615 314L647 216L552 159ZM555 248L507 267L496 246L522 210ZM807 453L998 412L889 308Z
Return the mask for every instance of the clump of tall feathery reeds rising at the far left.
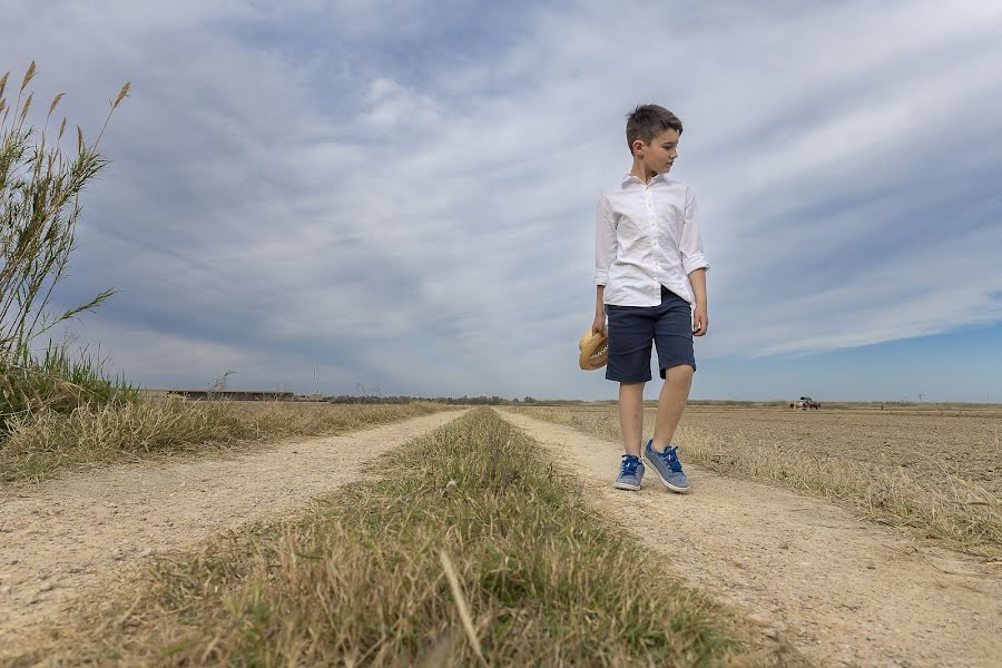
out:
M108 163L98 153L96 143L86 143L80 126L77 126L73 159L63 155L59 141L47 145L48 121L62 100L62 92L49 105L41 132L36 131L29 121L35 91L28 89L36 72L32 61L13 107L3 97L9 72L0 77L0 110L3 111L0 121L0 438L11 415L46 407L72 410L94 397L115 395L116 392L105 392L108 387L126 390L108 377L76 374L73 365L67 364L66 351L53 354L51 342L45 358L31 353L32 342L40 335L96 308L114 294L114 289L106 289L61 314L49 312L52 291L65 278L77 247L80 193ZM128 92L127 86L122 92ZM117 101L121 101L122 92ZM104 127L107 125L108 118ZM66 119L60 124L60 139L65 129ZM89 369L86 360L79 364ZM63 373L77 380L86 379L85 385L58 375Z

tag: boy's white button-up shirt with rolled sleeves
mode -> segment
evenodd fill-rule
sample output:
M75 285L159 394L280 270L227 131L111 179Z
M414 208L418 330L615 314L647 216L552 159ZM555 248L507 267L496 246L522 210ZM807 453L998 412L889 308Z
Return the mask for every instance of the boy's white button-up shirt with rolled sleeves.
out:
M689 274L708 267L692 188L627 175L599 197L595 282L606 286L606 304L657 306L662 285L695 304Z

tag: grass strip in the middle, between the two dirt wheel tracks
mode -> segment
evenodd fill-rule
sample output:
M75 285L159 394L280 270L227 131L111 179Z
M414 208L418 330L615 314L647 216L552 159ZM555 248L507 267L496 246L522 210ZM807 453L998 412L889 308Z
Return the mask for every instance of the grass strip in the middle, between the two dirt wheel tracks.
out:
M99 665L750 665L736 618L584 504L479 409L383 456L296 522L259 525L95 606L29 659ZM740 633L737 633L738 636ZM757 659L755 659L757 660ZM768 661L767 661L768 662Z

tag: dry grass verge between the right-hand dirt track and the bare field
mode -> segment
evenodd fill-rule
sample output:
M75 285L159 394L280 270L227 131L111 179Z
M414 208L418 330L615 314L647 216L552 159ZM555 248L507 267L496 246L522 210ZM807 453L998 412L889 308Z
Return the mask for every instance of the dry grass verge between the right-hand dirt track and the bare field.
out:
M612 410L519 409L519 412L579 429L610 441L621 441L618 412ZM740 409L735 409L740 411ZM654 432L652 412L645 412L645 433ZM846 418L849 420L849 418ZM930 538L946 539L964 551L991 558L1002 556L1002 501L984 485L935 465L910 473L894 462L865 461L853 455L851 443L812 452L806 445L776 439L754 442L739 429L700 425L688 415L676 435L684 461L736 478L778 484L796 492L823 497L866 515L917 528ZM994 444L984 450L998 456ZM838 438L828 440L837 443Z

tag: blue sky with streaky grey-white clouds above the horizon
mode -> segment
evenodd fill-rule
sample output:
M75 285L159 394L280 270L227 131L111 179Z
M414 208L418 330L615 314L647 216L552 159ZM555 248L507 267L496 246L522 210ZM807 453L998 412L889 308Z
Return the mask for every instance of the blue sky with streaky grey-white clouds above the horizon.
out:
M1002 401L1002 4L0 4L0 72L88 137L131 84L53 310L114 287L68 331L141 386L613 397L596 203L655 102L694 397Z

